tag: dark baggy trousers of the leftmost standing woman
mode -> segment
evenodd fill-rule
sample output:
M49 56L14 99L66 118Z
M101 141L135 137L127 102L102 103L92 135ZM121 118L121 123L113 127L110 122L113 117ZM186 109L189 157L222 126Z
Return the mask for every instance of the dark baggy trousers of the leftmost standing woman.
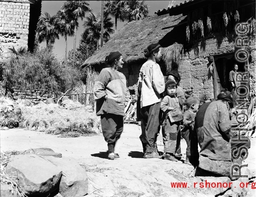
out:
M108 152L114 152L117 140L123 131L123 117L116 114L101 115L102 133L108 143Z

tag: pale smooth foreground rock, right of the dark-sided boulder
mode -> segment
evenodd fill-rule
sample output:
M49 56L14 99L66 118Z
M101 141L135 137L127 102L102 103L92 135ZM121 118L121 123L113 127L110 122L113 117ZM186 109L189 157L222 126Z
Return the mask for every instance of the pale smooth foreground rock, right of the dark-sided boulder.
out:
M86 171L76 160L62 157L44 157L62 171L59 192L64 197L81 197L88 192L88 178Z

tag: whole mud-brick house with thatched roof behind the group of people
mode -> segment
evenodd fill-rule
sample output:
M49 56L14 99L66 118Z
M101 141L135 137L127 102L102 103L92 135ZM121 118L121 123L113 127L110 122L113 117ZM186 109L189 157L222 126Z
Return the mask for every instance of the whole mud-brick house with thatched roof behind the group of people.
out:
M235 27L239 22L249 23L246 50L250 56L246 62L235 58L239 50ZM154 16L123 26L84 66L100 70L105 57L119 51L125 56L122 71L132 86L146 61L143 50L151 42L165 47L159 63L162 72L165 75L166 70L178 69L186 97L210 100L216 99L222 88L230 90L228 75L234 63L239 71L249 73L247 86L250 95L255 94L255 1L190 0L159 10Z

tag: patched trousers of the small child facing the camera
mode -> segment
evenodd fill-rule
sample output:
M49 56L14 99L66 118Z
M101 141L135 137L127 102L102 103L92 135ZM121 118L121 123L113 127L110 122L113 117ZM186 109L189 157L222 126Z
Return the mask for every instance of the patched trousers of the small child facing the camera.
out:
M167 117L162 125L163 151L166 153L181 153L180 151L180 121L171 123Z

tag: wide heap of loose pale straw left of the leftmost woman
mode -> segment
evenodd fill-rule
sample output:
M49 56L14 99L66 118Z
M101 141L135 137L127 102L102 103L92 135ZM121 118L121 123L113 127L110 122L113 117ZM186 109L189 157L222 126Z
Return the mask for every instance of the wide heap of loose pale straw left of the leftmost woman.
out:
M53 103L23 107L23 127L47 134L60 134L60 137L79 137L101 132L100 118L91 106L82 106L71 100L65 100L62 104L64 107Z

